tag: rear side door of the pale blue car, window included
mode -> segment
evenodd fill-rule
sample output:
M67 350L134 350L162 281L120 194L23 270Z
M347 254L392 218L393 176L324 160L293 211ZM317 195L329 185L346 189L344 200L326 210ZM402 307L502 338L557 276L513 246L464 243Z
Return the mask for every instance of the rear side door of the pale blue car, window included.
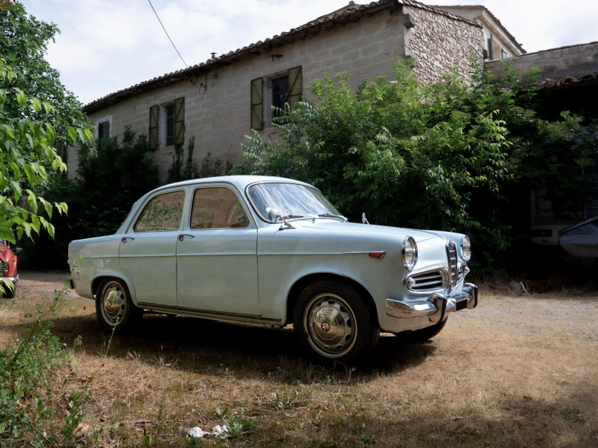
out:
M120 241L120 267L135 287L137 302L177 306L177 238L185 192L158 193L145 203Z

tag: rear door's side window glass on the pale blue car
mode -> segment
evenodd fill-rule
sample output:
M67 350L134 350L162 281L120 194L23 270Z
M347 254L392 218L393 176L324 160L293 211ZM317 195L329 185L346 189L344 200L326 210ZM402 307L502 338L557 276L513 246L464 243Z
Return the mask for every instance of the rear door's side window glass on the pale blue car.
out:
M133 230L135 232L177 230L181 225L184 199L184 191L172 191L172 193L155 196L143 209Z

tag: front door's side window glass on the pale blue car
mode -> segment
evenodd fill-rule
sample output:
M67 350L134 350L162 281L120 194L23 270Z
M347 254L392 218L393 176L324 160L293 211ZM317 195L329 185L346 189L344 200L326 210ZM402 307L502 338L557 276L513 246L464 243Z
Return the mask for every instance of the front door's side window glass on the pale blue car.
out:
M195 191L192 229L246 228L248 225L247 212L230 188L208 187Z

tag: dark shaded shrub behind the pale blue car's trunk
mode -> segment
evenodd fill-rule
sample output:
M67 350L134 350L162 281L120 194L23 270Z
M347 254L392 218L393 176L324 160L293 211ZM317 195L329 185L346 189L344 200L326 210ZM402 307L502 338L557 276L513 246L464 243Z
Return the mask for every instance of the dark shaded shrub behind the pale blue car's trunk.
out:
M159 185L157 166L148 151L147 137L128 127L122 143L110 137L83 145L78 177L57 176L47 193L50 199L66 201L69 213L56 218L55 240L39 238L23 244L23 265L59 269L71 240L115 233L133 203Z

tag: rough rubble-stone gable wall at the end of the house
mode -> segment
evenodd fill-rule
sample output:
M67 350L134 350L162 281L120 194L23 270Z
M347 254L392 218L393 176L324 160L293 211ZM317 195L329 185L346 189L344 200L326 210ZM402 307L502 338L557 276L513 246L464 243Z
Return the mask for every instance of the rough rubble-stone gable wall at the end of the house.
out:
M469 58L472 54L482 58L482 28L425 9L405 7L404 14L413 25L406 28L405 53L415 61L419 82L438 82L453 67L469 82Z

